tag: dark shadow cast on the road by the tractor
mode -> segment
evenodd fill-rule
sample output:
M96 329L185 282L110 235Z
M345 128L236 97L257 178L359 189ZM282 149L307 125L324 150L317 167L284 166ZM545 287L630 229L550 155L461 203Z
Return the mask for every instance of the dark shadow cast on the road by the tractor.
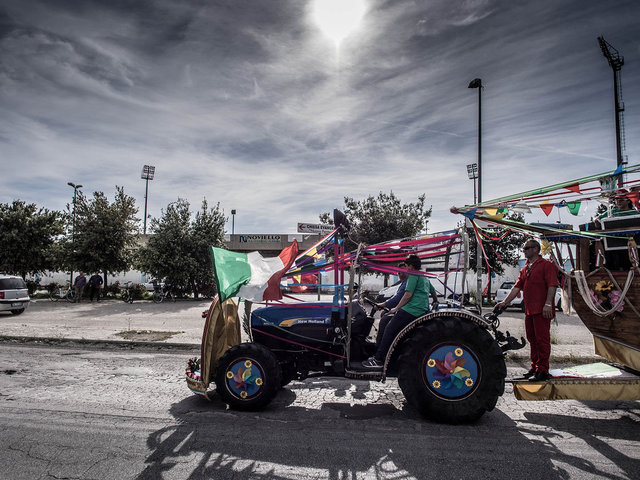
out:
M566 478L549 446L498 410L474 425L440 425L388 403L294 406L292 389L261 412L228 410L215 394L174 403L176 422L149 435L152 453L137 478Z

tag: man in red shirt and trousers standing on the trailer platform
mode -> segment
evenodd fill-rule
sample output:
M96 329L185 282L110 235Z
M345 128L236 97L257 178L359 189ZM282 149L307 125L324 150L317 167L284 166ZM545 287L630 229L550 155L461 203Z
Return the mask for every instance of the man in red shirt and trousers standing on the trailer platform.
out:
M520 291L524 292L524 326L531 348L531 369L524 374L531 381L548 380L551 355L551 319L555 316L554 298L558 287L558 268L540 256L540 244L527 240L522 247L527 263L504 301L496 308L504 310Z

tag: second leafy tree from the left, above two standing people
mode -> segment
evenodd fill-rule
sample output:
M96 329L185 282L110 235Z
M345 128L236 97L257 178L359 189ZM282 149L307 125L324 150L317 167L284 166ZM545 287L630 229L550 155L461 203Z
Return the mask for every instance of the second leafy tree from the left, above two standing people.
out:
M71 238L67 238L66 252L69 267L85 272L115 274L130 269L133 252L138 245L138 209L135 199L116 186L112 203L102 192L93 198L78 193L73 211L68 215L71 222Z

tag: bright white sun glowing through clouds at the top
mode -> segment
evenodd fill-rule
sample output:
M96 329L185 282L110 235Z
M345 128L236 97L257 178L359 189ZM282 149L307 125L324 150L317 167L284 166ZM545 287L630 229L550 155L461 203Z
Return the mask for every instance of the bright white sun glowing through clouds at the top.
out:
M315 0L313 17L336 46L354 30L364 15L363 0Z

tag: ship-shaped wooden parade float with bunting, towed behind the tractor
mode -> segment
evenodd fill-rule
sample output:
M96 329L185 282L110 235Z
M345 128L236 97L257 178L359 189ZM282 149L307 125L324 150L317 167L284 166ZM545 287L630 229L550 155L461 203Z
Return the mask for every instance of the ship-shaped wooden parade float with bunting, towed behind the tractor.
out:
M580 317L593 335L594 349L610 363L552 371L547 382L515 381L522 400L640 399L640 165L570 180L452 208L464 215L482 243L483 231L494 237L522 232L542 241L542 254L562 274L563 308ZM577 216L587 201L602 213L573 226L509 220L509 212L549 216L556 209Z

